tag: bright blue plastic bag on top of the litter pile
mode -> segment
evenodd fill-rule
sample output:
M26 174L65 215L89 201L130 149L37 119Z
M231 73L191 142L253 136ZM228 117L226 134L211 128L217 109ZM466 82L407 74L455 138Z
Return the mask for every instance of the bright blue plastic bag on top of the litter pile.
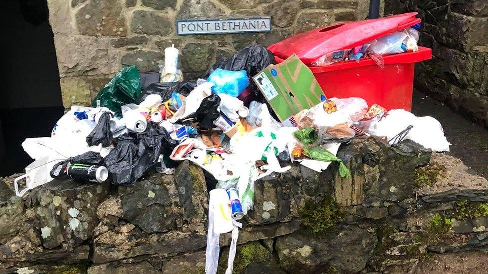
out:
M213 93L225 93L233 97L239 96L249 85L245 70L231 71L217 68L210 74L208 81L214 84Z

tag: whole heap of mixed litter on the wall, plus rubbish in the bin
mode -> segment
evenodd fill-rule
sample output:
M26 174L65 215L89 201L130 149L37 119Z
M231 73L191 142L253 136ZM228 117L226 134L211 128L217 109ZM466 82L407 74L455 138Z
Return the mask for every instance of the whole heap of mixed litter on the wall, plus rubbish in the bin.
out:
M408 28L333 52L316 65L416 50L417 39L416 30ZM142 88L137 68L125 67L93 99L93 107L72 106L50 137L26 139L22 146L35 161L15 180L17 195L62 176L130 186L152 168L170 174L178 162L189 160L218 182L210 191L206 272L216 272L219 234L232 231L231 273L237 220L253 207L257 179L285 172L295 161L317 172L337 162L340 176L349 177L336 154L341 144L360 136L390 144L411 139L433 151L449 150L432 117L388 111L357 97L327 99L296 56L276 64L266 48L249 46L218 62L205 79L183 81L177 49L166 51L161 82ZM23 178L26 188L19 191Z

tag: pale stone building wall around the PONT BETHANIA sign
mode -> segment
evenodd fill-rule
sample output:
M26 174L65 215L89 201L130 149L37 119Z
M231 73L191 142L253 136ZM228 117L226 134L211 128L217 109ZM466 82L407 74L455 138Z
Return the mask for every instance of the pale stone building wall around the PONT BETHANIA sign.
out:
M90 99L120 70L159 71L164 48L181 50L187 79L247 45L268 46L285 37L339 21L363 19L368 0L48 0L64 107ZM177 36L188 18L271 16L269 33Z

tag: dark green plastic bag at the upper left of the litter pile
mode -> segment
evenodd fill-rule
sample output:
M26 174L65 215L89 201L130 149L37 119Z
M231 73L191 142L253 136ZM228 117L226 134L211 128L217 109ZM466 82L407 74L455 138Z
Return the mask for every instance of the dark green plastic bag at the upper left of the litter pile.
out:
M107 107L115 112L115 115L121 115L122 106L134 103L141 93L139 70L136 66L127 66L98 92L92 105Z

